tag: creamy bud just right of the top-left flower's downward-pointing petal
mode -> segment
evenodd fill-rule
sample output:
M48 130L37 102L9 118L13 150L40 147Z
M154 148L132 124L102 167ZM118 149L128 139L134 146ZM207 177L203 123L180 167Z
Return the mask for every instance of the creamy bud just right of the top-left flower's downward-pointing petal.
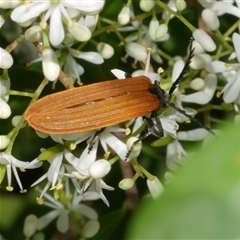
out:
M77 22L69 26L68 31L80 42L87 42L92 36L91 31L87 27Z

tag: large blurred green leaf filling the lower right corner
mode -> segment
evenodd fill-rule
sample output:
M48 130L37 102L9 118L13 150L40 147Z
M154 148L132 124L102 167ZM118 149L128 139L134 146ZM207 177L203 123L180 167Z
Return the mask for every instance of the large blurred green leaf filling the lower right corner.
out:
M239 239L240 126L229 125L159 199L142 201L127 239Z

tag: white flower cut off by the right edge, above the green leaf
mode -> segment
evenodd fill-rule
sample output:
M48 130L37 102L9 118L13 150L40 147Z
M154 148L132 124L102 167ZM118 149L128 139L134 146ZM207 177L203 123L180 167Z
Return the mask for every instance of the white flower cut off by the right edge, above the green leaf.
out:
M223 100L226 103L234 102L240 93L240 35L234 33L232 40L238 63L229 64L221 61L214 61L206 67L206 69L212 73L236 71L232 77L227 79L228 83L222 90Z

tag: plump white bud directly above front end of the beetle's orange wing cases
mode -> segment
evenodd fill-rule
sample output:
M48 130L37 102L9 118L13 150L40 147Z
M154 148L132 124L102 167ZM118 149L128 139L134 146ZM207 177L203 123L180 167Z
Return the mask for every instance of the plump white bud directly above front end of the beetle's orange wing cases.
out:
M143 61L147 59L147 49L138 43L127 43L125 45L125 51L129 56L138 61Z

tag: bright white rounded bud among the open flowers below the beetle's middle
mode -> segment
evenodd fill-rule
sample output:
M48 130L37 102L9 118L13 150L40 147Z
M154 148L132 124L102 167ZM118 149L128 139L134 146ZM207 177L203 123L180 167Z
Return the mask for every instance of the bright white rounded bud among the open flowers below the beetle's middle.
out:
M105 159L94 162L89 168L89 174L94 179L105 177L111 170L111 164Z

